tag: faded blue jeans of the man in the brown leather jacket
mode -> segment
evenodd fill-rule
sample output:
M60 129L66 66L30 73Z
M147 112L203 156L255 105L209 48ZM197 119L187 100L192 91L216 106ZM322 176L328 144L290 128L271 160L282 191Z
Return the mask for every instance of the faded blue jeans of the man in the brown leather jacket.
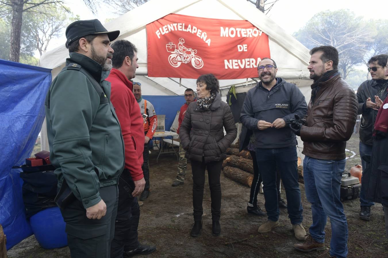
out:
M306 197L311 203L313 216L310 235L315 241L324 243L325 226L329 216L330 255L336 257L346 257L348 254L348 222L340 201L341 176L345 163L345 159L333 161L308 156L303 160Z

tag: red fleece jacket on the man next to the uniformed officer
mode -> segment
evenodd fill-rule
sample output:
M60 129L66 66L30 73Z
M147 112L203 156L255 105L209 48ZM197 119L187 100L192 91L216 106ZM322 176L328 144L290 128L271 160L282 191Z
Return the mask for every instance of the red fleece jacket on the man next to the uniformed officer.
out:
M125 144L125 168L133 181L143 176L144 126L139 104L132 93L133 84L119 70L112 69L107 81L111 82L111 101L116 110Z

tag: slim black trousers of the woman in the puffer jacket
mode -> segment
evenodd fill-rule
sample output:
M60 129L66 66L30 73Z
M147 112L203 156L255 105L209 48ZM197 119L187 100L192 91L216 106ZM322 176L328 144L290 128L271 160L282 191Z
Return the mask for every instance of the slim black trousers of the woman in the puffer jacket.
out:
M194 221L201 221L203 208L203 188L205 185L205 169L208 170L210 196L211 196L211 219L219 221L221 215L221 183L220 175L223 161L206 163L191 160L193 175L193 208Z

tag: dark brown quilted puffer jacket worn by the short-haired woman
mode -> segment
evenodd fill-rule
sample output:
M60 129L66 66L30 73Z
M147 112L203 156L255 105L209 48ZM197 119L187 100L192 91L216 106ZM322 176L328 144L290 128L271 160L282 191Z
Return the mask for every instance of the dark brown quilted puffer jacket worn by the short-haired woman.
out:
M223 134L225 127L226 135ZM222 161L226 149L237 136L237 128L228 104L221 101L216 94L210 110L203 111L196 102L189 104L185 117L179 128L179 138L185 157L194 161Z

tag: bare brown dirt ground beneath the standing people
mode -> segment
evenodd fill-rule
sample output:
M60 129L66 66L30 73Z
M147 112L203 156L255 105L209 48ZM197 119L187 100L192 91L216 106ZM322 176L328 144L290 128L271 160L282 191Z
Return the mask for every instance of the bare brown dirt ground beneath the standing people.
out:
M346 170L360 164L358 134L348 141L347 149L357 155L348 159ZM221 175L222 207L221 236L211 234L210 191L205 186L204 216L201 236L189 235L192 218L192 177L189 164L183 186L171 187L177 171L177 157L162 155L156 163L157 151L150 155L151 195L141 207L139 241L157 246L149 257L330 257L329 246L331 224L326 225L326 251L302 253L294 250L295 239L286 210L281 211L281 226L269 234L258 234L260 224L266 217L247 215L246 206L249 188ZM350 152L348 156L352 155ZM207 180L206 180L207 181ZM206 182L207 185L207 182ZM300 185L303 204L303 225L312 223L311 208L305 197L304 185ZM285 198L284 190L282 198ZM258 196L259 205L264 207L264 196ZM370 221L359 219L359 199L343 202L348 219L348 257L388 257L385 237L384 213L381 204L372 206ZM28 237L8 251L12 258L70 257L69 248L47 250L41 248L34 236Z

